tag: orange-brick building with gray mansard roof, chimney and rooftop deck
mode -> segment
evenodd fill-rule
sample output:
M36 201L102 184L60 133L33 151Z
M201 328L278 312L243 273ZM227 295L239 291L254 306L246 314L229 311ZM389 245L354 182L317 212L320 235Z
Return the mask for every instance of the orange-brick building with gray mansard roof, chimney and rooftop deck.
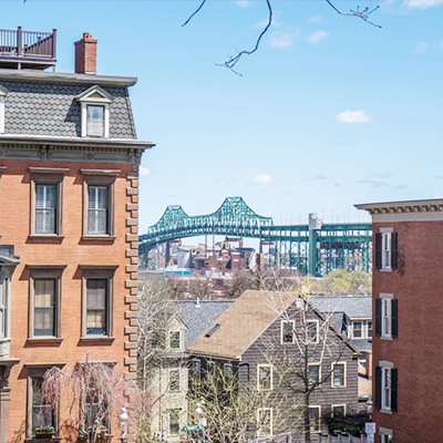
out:
M75 73L43 71L54 51L55 32L0 30L1 443L35 439L48 368L92 351L136 374L138 164L153 144L136 140L136 79L95 74L96 40L75 43ZM62 441L68 412L62 399L52 414Z

